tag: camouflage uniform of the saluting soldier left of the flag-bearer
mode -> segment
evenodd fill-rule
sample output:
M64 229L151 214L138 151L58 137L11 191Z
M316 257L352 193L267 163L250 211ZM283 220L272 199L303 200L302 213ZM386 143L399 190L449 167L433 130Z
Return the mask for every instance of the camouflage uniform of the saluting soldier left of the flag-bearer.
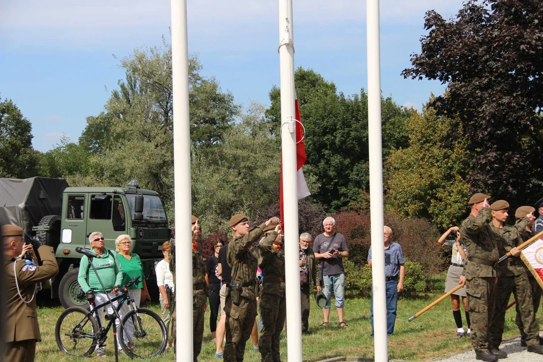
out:
M490 208L483 207L475 217L469 215L460 225L460 237L466 246L468 262L464 265L468 312L471 320L471 345L475 352L488 350L488 326L494 314L496 270L500 255L495 235L487 223ZM490 265L487 265L490 264Z

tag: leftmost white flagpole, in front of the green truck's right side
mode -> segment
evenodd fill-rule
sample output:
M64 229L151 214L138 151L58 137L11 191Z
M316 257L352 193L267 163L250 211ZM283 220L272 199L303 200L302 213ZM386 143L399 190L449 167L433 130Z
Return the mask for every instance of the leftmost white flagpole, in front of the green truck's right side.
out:
M191 138L188 113L187 2L172 0L176 359L192 361Z

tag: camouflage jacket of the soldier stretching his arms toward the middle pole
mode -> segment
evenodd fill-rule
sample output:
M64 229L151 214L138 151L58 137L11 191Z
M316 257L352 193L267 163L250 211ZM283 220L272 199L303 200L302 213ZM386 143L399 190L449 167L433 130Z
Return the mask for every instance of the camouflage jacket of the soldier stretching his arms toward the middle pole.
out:
M260 238L262 230L266 224L251 227L247 235L235 237L228 244L226 249L226 262L232 268L232 281L249 283L256 281L256 267L258 262L258 253L250 246ZM257 296L257 283L254 285L242 287L241 296L249 300L255 300Z

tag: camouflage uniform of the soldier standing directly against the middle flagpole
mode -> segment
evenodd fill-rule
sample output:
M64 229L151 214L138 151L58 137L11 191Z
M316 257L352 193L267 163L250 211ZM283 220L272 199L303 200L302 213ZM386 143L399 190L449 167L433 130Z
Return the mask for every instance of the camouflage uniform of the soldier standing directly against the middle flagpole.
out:
M285 253L277 250L273 242L274 231L260 240L258 266L262 269L262 295L260 297L260 318L262 331L258 347L262 362L281 362L279 341L285 326L287 307L285 300Z

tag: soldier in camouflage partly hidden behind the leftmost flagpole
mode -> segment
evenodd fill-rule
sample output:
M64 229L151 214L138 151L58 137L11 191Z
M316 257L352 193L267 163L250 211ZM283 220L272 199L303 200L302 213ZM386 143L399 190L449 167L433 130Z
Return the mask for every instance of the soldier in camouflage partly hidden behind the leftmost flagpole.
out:
M194 362L198 361L198 355L202 349L204 339L204 313L207 307L207 284L205 282L205 260L202 256L202 247L197 243L200 234L200 225L197 217L192 215L192 348ZM169 266L175 284L175 239L170 240ZM172 329L175 340L176 307L172 312ZM177 347L177 343L174 342Z

